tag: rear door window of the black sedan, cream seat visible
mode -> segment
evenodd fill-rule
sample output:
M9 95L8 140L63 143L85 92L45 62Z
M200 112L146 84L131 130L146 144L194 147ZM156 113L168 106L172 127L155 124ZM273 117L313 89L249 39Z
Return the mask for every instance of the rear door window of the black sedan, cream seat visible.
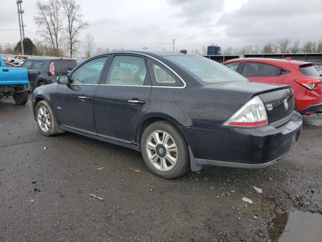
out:
M144 59L138 56L114 56L105 84L142 86L146 77Z

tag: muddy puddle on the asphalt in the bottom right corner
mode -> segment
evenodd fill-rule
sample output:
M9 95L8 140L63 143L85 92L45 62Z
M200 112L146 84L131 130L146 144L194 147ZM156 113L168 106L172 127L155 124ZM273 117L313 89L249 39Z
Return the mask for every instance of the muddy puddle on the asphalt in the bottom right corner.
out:
M294 211L273 219L274 228L268 234L272 242L321 242L322 215Z

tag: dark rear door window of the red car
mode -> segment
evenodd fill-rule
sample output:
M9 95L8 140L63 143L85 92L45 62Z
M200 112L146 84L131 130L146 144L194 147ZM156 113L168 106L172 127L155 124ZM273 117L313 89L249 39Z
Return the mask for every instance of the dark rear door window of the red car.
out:
M242 75L245 77L274 77L280 74L280 68L258 62L247 62Z

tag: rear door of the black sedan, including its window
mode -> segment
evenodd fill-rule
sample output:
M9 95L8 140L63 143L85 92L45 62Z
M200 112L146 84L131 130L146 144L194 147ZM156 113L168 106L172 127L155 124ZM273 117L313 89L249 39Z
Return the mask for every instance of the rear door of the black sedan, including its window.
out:
M137 54L114 54L109 66L95 93L95 126L99 136L131 143L134 124L149 105L146 60Z

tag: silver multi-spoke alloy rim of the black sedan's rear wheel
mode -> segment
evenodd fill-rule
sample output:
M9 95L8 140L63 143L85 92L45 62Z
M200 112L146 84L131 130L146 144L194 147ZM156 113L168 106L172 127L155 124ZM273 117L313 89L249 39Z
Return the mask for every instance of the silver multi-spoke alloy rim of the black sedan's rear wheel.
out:
M171 170L177 163L177 144L165 131L153 131L146 139L145 150L151 164L160 171Z

